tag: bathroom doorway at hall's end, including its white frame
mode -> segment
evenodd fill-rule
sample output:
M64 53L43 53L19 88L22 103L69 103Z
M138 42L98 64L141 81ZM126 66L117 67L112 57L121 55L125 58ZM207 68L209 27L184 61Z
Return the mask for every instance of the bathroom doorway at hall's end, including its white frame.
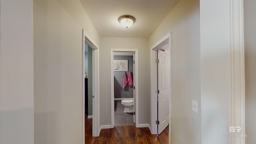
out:
M138 50L111 49L111 127L138 122Z

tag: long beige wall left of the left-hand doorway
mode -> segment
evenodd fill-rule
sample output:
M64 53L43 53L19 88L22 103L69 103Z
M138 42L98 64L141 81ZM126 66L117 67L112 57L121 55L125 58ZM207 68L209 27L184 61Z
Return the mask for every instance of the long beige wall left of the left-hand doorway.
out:
M36 144L82 144L82 29L99 45L79 0L34 0Z

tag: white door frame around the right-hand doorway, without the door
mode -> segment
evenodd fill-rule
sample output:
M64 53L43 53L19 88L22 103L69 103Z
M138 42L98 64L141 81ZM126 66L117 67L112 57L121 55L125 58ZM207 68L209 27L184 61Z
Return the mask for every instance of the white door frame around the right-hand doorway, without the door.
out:
M172 32L169 32L161 40L156 42L150 48L150 59L151 59L151 133L157 134L157 99L156 99L156 90L157 90L157 64L156 64L156 55L157 50L169 42L169 52L170 52L170 101L169 101L169 143L171 136L171 119L172 119Z

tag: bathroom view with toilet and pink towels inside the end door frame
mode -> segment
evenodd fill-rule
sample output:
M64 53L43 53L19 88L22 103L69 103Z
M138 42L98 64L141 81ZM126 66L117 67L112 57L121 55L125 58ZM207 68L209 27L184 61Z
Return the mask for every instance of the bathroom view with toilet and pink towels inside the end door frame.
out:
M114 52L114 125L135 124L134 52Z

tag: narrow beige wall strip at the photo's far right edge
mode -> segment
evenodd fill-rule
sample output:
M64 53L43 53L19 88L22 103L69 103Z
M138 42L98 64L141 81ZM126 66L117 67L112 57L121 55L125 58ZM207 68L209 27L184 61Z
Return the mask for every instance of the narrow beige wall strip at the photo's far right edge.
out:
M244 51L245 51L245 126L246 144L255 144L256 137L256 1L244 0Z

